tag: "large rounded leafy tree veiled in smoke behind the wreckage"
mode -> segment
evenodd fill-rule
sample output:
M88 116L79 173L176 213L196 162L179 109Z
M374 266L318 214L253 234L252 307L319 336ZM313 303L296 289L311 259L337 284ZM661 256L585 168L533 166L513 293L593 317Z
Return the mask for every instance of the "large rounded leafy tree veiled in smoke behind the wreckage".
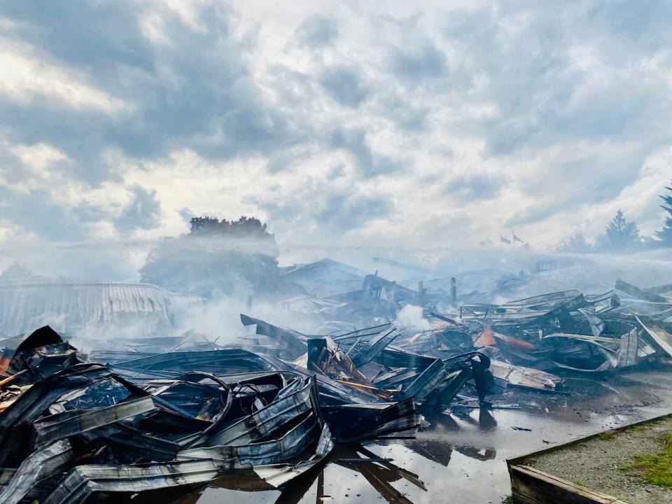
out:
M256 218L219 221L195 217L190 232L164 239L148 254L141 280L211 297L245 296L274 287L278 262L275 238Z

